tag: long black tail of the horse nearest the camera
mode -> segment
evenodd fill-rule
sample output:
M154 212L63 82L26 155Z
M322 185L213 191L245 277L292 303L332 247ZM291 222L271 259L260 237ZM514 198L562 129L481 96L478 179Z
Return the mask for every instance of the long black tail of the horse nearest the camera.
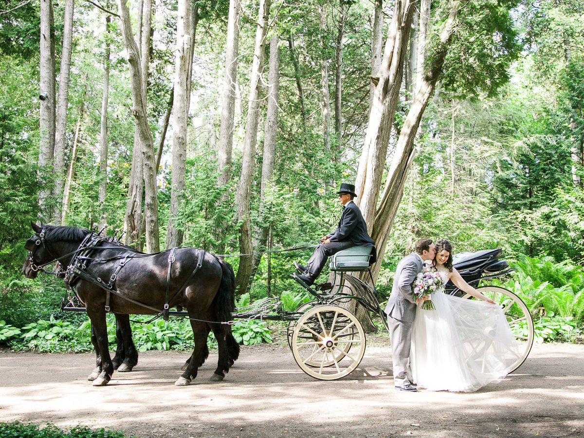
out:
M231 314L235 310L235 274L233 268L223 259L217 259L221 265L221 284L213 300L219 321L231 321ZM231 333L231 325L221 324L221 331L227 341L227 355L230 365L239 357L239 344Z

